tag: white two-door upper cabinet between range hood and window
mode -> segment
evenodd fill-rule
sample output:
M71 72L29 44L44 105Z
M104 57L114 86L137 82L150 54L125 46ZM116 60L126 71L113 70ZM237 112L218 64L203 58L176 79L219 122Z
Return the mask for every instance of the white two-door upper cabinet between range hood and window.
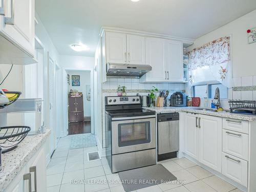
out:
M140 82L183 82L183 44L181 41L146 37L146 64L152 71Z

